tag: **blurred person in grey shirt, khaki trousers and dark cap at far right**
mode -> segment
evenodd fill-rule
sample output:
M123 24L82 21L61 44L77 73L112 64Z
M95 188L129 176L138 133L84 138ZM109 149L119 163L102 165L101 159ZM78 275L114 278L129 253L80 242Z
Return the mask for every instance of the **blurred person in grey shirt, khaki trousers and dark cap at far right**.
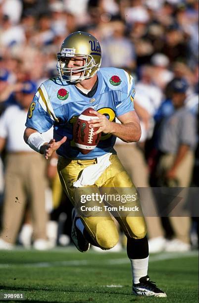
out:
M157 172L162 184L176 187L189 187L194 166L194 150L197 145L196 117L185 106L188 83L184 79L175 78L170 83L171 101L174 106L161 124L158 148L161 152ZM165 183L166 182L166 183ZM185 200L184 200L185 201ZM184 216L183 216L184 214ZM175 236L166 245L167 251L187 251L190 249L190 217L184 212L174 216L171 212Z

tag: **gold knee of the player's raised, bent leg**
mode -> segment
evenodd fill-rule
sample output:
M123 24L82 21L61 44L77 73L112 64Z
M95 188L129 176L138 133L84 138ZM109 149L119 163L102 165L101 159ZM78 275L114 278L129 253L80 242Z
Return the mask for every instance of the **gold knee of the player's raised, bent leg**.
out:
M113 248L119 240L119 234L113 220L102 220L96 226L96 241L102 250Z

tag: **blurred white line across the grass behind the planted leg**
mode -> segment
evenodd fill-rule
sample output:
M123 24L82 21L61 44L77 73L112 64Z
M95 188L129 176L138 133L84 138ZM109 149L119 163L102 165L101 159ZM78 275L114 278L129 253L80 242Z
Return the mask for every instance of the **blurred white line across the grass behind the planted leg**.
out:
M198 256L197 251L186 252L186 253L161 253L158 255L152 255L149 257L150 262L177 259L177 258L186 258L186 257L195 257ZM126 258L118 258L112 260L100 260L101 265L120 265L120 264L128 264L129 259ZM37 262L37 263L25 263L25 264L0 264L0 268L11 268L11 267L54 267L54 266L84 266L84 265L98 265L99 262L95 260L70 260L70 261L54 261L54 262Z

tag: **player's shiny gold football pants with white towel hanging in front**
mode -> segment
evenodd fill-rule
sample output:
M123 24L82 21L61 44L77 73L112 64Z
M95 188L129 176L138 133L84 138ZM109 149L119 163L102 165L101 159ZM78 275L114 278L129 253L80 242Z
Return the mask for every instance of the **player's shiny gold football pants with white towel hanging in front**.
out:
M93 160L70 160L59 157L57 170L62 187L69 197L72 204L78 210L81 220L92 237L92 239L99 245L101 249L107 250L114 247L119 239L118 231L111 214L119 222L125 235L130 238L142 239L146 236L147 226L145 218L142 213L139 199L137 198L137 190L130 180L127 172L122 166L116 154L110 156L111 164L101 174L99 179L92 186L74 188L73 183L79 178L84 168L97 163L97 159ZM117 197L136 197L134 201L89 201L82 197L94 197L92 194L117 195ZM99 196L98 196L99 197ZM94 205L96 207L94 207ZM106 205L106 206L105 206ZM83 206L84 211L81 212ZM100 209L99 209L99 207ZM107 210L114 209L114 211ZM123 211L117 211L119 207L125 207ZM88 210L85 211L86 207ZM130 211L134 207L138 211Z

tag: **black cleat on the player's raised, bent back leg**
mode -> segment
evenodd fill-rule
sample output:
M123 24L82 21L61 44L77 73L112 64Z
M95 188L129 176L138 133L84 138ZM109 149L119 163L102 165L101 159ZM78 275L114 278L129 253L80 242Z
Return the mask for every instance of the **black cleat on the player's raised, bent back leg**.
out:
M81 253L87 252L90 248L90 243L86 240L86 238L83 236L81 231L76 226L76 211L75 208L72 210L72 231L71 231L71 238Z

